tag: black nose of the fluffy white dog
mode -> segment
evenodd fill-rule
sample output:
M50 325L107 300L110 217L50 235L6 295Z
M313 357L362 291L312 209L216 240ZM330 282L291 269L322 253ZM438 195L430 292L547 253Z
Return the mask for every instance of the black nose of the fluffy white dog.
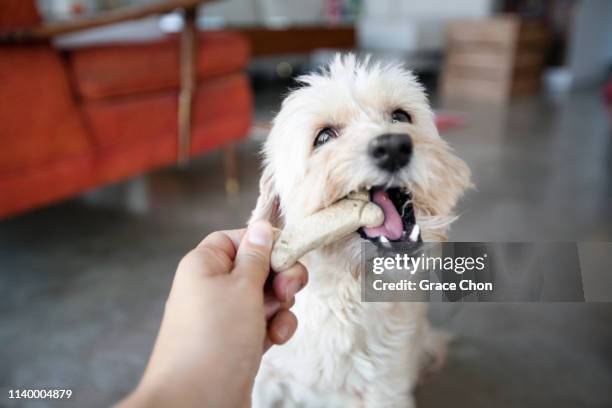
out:
M412 139L406 133L386 133L370 142L368 152L378 167L394 172L410 161Z

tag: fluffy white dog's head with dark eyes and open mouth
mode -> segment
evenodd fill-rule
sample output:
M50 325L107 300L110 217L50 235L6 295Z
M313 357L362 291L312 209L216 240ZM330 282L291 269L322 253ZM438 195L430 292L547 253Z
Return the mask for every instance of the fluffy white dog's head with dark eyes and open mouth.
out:
M415 77L348 55L299 81L304 86L284 100L265 144L252 219L281 227L367 189L385 224L362 237L415 240L416 215L425 240L442 238L469 170L440 139Z

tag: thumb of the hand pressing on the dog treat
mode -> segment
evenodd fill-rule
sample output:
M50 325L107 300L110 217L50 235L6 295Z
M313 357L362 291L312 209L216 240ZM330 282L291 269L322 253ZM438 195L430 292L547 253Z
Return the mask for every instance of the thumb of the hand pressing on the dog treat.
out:
M232 274L244 275L263 287L270 273L272 241L269 222L260 220L249 225L238 247Z

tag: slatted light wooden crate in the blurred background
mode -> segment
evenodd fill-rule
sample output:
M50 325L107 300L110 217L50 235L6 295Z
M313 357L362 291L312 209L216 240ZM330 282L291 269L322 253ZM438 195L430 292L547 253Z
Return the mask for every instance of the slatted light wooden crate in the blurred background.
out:
M444 99L506 102L538 91L548 34L539 22L507 15L449 24Z

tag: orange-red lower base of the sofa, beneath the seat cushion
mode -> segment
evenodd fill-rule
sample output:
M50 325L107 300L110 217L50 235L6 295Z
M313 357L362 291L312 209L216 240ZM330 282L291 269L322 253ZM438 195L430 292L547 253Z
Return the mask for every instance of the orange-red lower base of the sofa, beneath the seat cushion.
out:
M0 200L0 217L175 163L177 103L172 90L86 103L95 146L18 173L0 172L0 197L7 198ZM208 81L194 105L192 155L248 135L251 94L244 74Z

